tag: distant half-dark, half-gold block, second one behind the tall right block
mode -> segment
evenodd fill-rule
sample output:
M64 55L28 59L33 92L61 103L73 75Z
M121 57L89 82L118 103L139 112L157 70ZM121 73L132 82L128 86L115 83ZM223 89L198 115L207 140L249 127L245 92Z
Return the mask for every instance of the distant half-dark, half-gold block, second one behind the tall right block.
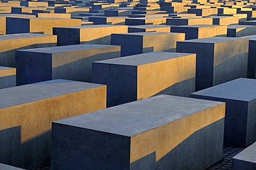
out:
M211 25L212 18L171 18L166 19L166 25Z

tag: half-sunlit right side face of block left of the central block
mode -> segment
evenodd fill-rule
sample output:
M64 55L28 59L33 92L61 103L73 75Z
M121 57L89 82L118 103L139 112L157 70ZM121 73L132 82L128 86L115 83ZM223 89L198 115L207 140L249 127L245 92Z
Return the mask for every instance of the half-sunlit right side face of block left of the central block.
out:
M92 82L92 62L121 56L120 46L53 54L52 79Z

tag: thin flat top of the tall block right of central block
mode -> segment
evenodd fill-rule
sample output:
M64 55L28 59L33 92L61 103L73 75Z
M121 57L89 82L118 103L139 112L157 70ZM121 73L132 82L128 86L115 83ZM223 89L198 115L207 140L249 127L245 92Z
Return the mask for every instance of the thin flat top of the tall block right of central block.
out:
M234 41L238 39L246 39L246 38L233 38L233 37L211 37L211 38L201 38L201 39L191 39L179 42L187 42L187 43L222 43L226 41Z

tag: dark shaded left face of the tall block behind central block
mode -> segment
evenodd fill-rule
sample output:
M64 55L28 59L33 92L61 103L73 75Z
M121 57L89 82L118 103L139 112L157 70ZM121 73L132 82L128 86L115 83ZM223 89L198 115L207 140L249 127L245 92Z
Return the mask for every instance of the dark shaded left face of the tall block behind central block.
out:
M196 54L196 91L213 86L213 43L178 41L176 51Z

